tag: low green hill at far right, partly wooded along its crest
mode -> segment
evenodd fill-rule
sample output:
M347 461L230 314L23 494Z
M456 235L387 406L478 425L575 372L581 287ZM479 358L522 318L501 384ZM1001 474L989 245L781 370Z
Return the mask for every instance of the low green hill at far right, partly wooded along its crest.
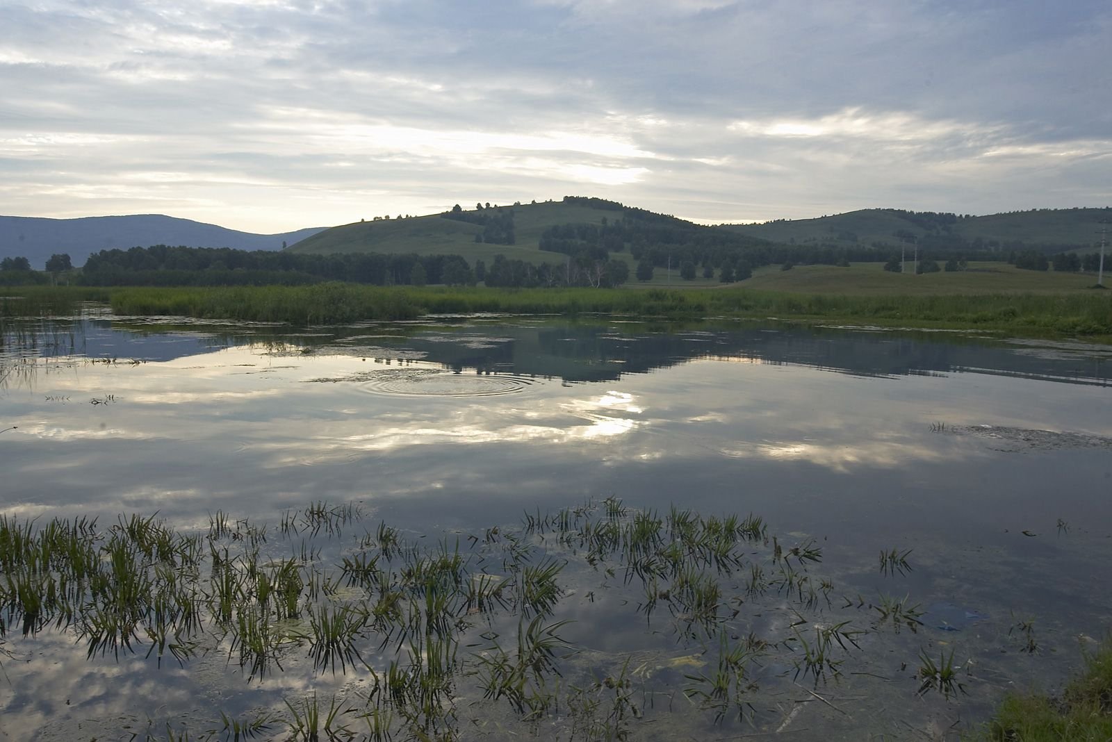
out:
M777 220L763 224L723 224L773 242L814 247L883 247L898 250L901 238L915 237L921 247L1015 250L1091 249L1099 243L1099 222L1110 209L1035 209L971 217L931 211L863 209L817 219Z

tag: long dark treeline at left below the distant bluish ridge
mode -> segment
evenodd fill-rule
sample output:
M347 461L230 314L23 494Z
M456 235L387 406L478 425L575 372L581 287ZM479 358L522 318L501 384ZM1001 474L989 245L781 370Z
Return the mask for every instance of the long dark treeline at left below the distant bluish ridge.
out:
M375 285L474 284L460 255L314 253L156 244L89 255L88 285L299 285L350 281Z

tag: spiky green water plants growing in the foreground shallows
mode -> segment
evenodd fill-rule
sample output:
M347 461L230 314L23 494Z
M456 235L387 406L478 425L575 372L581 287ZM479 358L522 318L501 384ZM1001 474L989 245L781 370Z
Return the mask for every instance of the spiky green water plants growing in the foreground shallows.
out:
M89 661L146 658L157 673L215 655L248 688L296 668L334 685L216 709L199 728L151 719L149 740L454 740L465 729L624 740L659 736L677 713L701 734L739 722L784 730L795 714L770 701L785 684L844 714L822 694L828 685L895 682L868 661L882 636L917 652L904 663L912 698L949 700L976 680L954 646L923 648L907 596L832 600L833 581L810 571L823 564L817 542L783 541L753 514L609 498L430 544L364 520L353 503L325 501L274 527L217 511L207 531L153 515L0 515L0 668L32 651L23 642L57 634ZM626 626L617 646L614 622ZM898 638L902 628L912 633ZM1106 714L1109 656L1090 658L1059 708ZM344 678L358 685L327 682ZM991 739L1052 739L1006 731L1021 723L1035 722L1001 715Z

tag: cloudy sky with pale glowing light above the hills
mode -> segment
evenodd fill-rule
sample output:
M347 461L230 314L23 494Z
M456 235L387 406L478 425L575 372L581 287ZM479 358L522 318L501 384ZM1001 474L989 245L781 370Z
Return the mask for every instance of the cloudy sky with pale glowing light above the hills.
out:
M1112 204L1109 0L0 0L0 214Z

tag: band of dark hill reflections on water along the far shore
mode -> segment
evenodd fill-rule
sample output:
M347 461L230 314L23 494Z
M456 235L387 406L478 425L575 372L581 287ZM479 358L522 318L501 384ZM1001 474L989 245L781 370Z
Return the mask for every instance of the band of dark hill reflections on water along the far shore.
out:
M946 332L725 324L713 331L624 322L481 322L441 320L376 323L295 332L288 328L219 322L166 324L130 320L9 321L6 368L20 358L82 357L168 361L234 345L274 355L356 354L384 363L426 360L454 371L613 381L691 359L807 365L865 377L976 372L1108 385L1106 347L970 338ZM374 330L374 332L369 331ZM9 373L13 370L8 368Z

